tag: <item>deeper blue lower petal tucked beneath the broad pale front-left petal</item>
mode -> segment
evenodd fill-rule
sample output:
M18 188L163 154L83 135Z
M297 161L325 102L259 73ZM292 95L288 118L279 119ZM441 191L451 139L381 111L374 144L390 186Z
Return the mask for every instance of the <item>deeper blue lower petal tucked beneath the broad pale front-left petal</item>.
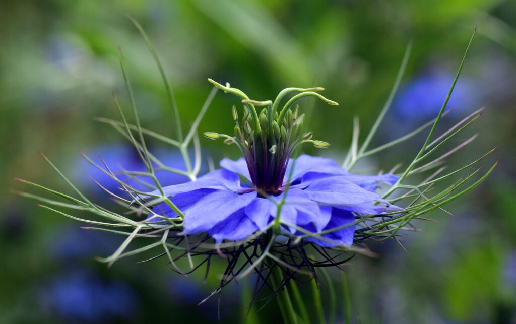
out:
M258 230L258 226L246 216L245 209L240 208L237 212L213 226L208 234L215 239L216 244L220 244L224 239L243 240Z

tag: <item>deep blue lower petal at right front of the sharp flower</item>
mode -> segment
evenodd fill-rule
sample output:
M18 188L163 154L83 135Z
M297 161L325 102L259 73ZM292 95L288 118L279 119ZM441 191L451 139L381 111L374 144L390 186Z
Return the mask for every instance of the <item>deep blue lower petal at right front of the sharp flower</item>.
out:
M355 218L350 212L338 208L332 208L330 222L326 225L324 231L340 227L343 228L321 235L329 241L317 239L315 237L305 238L304 240L314 242L321 247L328 248L335 247L337 245L351 246L351 244L353 244L353 234L355 230L354 221Z

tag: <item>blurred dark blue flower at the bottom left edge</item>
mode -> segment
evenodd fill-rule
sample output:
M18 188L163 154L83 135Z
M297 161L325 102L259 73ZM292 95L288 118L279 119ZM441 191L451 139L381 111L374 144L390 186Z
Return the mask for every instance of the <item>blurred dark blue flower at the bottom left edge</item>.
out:
M86 271L59 276L40 297L47 309L67 322L128 319L138 309L137 294L130 286Z

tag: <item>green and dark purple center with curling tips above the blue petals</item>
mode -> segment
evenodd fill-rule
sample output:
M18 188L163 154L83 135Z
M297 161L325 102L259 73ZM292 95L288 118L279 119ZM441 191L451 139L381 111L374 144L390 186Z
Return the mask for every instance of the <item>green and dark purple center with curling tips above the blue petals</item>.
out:
M251 181L256 191L264 195L278 195L283 185L288 160L295 149L304 142L311 142L316 148L327 148L329 143L312 140L312 132L300 134L304 114L299 115L299 106L296 102L305 96L316 96L328 104L338 105L336 102L324 98L315 91L323 88L286 88L282 90L274 102L250 100L241 90L231 88L229 84L222 86L208 79L216 87L225 92L233 93L243 99L244 116L239 119L236 107L232 107L235 121L235 135L228 136L218 133L204 133L209 139L225 137L227 144L235 143L246 159ZM285 95L300 92L289 99L283 108L279 104ZM264 107L260 112L257 107Z

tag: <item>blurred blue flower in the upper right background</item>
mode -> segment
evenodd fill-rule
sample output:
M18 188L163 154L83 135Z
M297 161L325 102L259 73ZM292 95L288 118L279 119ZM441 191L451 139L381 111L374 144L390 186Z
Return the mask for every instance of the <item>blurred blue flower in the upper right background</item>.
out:
M416 76L402 86L396 95L392 105L396 116L410 124L436 117L454 78L454 73L439 67L430 67ZM478 99L473 81L461 76L446 107L473 111L479 108Z

